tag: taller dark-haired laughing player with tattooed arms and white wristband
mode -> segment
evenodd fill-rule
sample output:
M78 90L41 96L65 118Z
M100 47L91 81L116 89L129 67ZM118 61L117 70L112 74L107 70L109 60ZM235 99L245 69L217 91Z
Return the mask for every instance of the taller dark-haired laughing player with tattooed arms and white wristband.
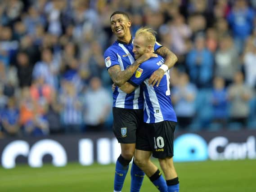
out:
M105 66L114 84L121 86L130 79L141 63L157 55L145 53L135 61L132 52L133 38L130 33L131 21L127 13L121 11L112 13L110 23L117 41L104 53ZM154 71L149 78L150 84L159 85L165 71L176 63L177 57L169 49L157 43L154 50L166 59L166 65ZM114 192L121 192L129 163L135 153L136 132L143 125L143 103L140 87L130 94L126 94L118 87L113 91L113 132L121 143L121 155L116 162ZM144 172L133 162L130 192L139 192L143 176Z

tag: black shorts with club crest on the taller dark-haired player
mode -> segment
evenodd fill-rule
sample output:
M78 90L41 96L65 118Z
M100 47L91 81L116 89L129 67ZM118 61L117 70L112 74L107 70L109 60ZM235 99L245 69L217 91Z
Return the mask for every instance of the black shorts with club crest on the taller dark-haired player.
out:
M113 107L113 132L119 143L135 143L136 130L143 126L143 109Z

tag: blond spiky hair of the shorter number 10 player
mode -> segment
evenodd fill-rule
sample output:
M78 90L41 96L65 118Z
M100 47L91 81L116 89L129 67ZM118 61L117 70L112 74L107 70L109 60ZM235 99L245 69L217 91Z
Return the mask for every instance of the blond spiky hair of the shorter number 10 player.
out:
M153 30L150 27L140 27L135 33L135 37L143 36L146 40L146 44L152 46L154 46L156 43L156 35L157 31Z

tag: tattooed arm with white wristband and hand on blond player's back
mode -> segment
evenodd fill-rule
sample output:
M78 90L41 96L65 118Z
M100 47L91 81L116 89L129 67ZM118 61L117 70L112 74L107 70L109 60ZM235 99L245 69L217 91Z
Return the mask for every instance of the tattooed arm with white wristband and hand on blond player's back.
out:
M159 49L157 49L155 53L165 58L165 63L159 69L153 72L153 74L150 76L148 80L148 83L152 84L153 86L157 83L157 86L158 86L165 72L175 65L178 58L174 53L172 53L165 46L162 46Z

